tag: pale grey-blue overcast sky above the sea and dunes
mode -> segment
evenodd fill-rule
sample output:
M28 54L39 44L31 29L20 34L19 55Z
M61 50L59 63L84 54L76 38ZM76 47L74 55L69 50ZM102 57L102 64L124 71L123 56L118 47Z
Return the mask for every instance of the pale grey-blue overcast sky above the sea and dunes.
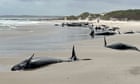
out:
M139 9L140 0L0 0L0 15L78 15Z

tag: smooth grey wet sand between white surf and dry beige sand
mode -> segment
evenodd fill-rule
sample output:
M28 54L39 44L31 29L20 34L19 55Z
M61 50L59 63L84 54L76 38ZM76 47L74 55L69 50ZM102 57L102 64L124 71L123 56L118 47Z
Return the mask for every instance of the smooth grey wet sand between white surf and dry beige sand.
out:
M0 53L11 55L67 50L64 46L67 43L90 39L89 32L88 28L62 28L52 23L17 26L11 31L0 31Z

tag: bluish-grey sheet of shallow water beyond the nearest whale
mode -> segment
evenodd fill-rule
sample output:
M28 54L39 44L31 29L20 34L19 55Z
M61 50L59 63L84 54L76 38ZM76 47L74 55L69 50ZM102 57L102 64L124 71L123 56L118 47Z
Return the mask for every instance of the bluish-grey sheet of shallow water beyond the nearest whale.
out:
M46 26L45 26L46 27ZM0 37L0 53L2 54L18 54L26 52L38 51L54 51L68 49L64 45L73 43L78 40L91 39L89 36L90 30L88 28L80 27L55 27L49 25L48 29L55 28L56 33L52 34L34 34L26 37L19 36L14 39L3 39ZM16 30L14 30L16 31ZM46 30L45 30L46 31ZM25 32L25 31L20 31Z

